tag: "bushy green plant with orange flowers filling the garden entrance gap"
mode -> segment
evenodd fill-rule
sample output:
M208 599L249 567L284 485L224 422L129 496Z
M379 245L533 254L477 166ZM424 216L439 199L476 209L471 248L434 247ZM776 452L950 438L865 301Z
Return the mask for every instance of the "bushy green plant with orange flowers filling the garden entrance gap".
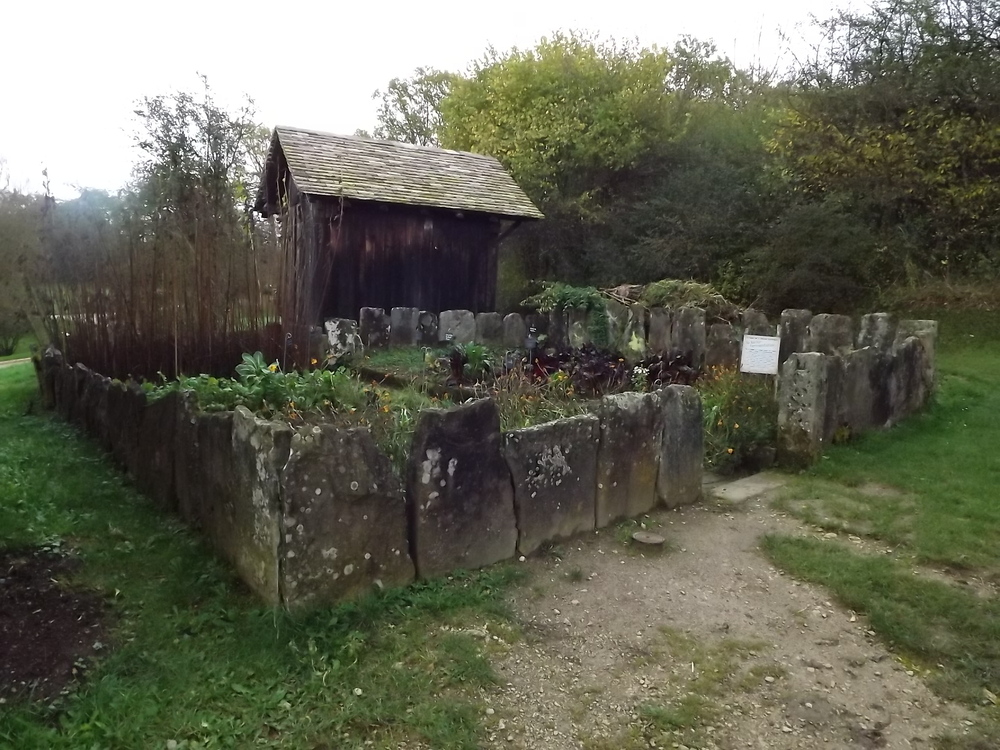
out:
M777 437L778 405L768 377L712 368L696 383L705 425L705 465L721 473L767 463Z

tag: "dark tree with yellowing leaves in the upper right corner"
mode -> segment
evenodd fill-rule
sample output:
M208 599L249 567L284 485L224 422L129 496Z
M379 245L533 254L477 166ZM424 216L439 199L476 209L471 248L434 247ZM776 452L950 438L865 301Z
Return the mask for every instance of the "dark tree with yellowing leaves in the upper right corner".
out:
M826 21L774 149L804 196L840 196L896 258L1000 271L1000 4L876 0Z

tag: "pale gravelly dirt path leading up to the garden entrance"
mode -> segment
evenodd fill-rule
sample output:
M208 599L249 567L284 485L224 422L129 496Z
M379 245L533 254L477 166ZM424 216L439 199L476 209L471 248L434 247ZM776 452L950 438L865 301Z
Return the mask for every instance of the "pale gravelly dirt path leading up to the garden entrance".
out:
M966 726L818 587L758 550L815 533L762 499L654 516L671 549L605 530L534 558L489 702L497 746L569 750L911 748Z

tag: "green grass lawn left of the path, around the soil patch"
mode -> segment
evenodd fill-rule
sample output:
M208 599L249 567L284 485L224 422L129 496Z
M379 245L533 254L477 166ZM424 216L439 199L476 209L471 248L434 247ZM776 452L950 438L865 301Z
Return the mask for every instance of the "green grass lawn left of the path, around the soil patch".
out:
M77 555L70 584L105 595L113 628L74 692L2 707L0 747L478 746L494 675L468 629L517 637L512 568L295 616L262 607L97 448L32 414L35 390L30 364L0 369L0 547Z

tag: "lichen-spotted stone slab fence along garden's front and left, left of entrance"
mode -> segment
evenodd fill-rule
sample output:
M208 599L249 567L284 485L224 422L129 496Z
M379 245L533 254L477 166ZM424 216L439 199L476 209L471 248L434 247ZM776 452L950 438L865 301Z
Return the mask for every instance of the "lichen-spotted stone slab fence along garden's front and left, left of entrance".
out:
M363 428L204 413L178 393L150 400L52 348L35 367L48 408L274 605L489 565L701 497L701 400L687 386L507 433L488 399L427 409L399 477Z

